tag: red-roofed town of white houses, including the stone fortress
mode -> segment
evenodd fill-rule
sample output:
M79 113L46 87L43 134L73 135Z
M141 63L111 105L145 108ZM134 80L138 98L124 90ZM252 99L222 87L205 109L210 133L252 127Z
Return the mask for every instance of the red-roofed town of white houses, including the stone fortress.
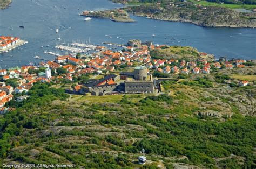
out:
M3 37L3 36L2 36ZM15 40L15 39L14 39ZM16 39L18 40L18 39ZM158 59L152 50L165 50L173 46L158 45L151 41L129 40L122 50L113 51L97 46L97 53L80 53L57 56L54 61L39 65L24 65L1 69L0 108L2 114L13 108L6 104L14 99L21 102L29 97L26 93L37 82L49 82L65 87L68 94L112 95L160 93L161 81L179 80L188 74L211 74L218 69L248 67L246 60L215 60L210 54L198 52L196 59ZM174 48L182 48L174 46ZM192 58L192 59L191 59ZM250 61L249 61L250 63ZM232 80L226 80L232 84ZM249 81L235 81L237 86L247 86Z

